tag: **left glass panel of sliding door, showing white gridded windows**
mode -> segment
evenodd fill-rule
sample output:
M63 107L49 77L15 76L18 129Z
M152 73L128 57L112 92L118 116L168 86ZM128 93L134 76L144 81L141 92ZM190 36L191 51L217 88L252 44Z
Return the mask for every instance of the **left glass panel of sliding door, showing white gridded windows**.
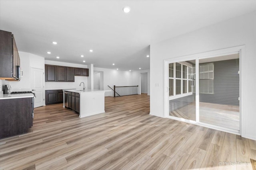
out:
M169 64L169 115L196 121L196 60Z

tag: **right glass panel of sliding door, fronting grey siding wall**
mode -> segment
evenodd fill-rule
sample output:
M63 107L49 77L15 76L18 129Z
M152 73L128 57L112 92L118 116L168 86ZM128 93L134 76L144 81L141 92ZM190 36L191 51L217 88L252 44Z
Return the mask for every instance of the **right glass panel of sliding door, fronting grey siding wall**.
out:
M199 60L199 121L239 130L239 54Z

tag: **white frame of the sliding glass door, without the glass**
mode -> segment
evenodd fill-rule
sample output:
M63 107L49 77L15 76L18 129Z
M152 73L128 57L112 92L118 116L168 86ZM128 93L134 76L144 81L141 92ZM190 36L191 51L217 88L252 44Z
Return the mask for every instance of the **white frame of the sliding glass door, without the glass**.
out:
M193 55L186 55L186 56L182 56L182 57L174 57L171 59L165 59L163 64L164 64L164 87L163 87L163 93L164 93L164 117L168 117L171 119L175 119L178 121L183 121L183 122L187 122L187 123L192 123L192 124L196 124L196 125L200 125L200 126L204 126L204 127L208 127L208 128L212 128L212 129L216 129L216 130L220 130L220 131L224 131L224 132L228 132L228 133L234 133L236 135L242 135L245 136L246 135L246 107L245 107L245 82L243 81L244 78L246 77L246 65L245 65L245 51L246 50L246 46L245 45L240 45L240 46L236 46L236 47L229 47L229 48L225 48L225 49L218 49L218 50L214 50L214 51L207 51L204 53L197 53L197 54L193 54ZM169 115L169 94L168 94L168 69L169 63L176 63L176 62L181 62L181 61L189 61L189 60L196 60L196 65L199 64L199 59L207 59L207 58L212 58L212 57L218 57L218 56L222 56L222 55L230 55L230 54L234 54L234 53L239 53L239 80L240 80L240 88L239 88L239 96L240 96L240 126L239 126L239 131L236 130L232 130L232 129L228 129L225 127L219 127L216 125L210 125L207 123L200 123L199 122L199 86L196 86L196 121L192 121L192 120L187 120L187 119L182 119L179 117L174 117L174 116L170 116ZM196 66L196 84L199 84L199 67Z

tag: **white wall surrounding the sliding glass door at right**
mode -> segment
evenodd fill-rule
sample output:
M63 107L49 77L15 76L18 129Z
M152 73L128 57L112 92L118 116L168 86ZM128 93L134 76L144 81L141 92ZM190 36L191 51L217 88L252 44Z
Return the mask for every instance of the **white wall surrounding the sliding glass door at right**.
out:
M256 140L256 12L150 45L150 114L164 117L164 59L246 45L245 110L242 136ZM159 83L159 86L157 86Z

